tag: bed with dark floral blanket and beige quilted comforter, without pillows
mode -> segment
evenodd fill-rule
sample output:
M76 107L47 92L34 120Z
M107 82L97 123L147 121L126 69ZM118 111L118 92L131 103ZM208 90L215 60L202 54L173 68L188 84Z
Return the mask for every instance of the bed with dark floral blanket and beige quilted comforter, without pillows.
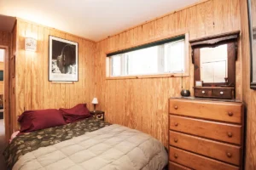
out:
M168 162L157 139L94 117L20 134L3 156L13 170L162 170Z

